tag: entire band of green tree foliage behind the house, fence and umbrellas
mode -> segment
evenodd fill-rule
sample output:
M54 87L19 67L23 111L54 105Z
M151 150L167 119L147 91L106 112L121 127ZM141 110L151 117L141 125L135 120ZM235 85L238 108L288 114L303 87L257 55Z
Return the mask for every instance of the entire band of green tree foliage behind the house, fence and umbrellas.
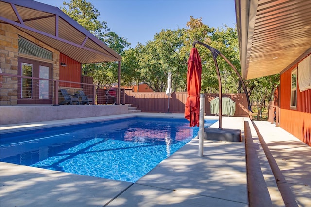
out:
M71 0L63 5L61 9L66 14L122 56L121 85L146 83L154 91L165 91L167 74L171 71L173 91L186 91L187 61L194 40L220 51L241 72L236 28L210 28L203 24L202 18L190 16L186 28L163 29L155 33L153 40L146 45L139 43L135 48L128 48L131 44L126 38L110 31L106 22L98 21L100 13L91 3L86 0ZM201 45L196 48L202 60L201 92L218 93L218 78L212 54ZM231 66L220 55L217 63L223 93L243 93L242 84ZM94 77L96 84L109 85L118 80L118 63L84 64L83 71L85 75ZM279 75L244 82L251 103L264 104L273 96Z

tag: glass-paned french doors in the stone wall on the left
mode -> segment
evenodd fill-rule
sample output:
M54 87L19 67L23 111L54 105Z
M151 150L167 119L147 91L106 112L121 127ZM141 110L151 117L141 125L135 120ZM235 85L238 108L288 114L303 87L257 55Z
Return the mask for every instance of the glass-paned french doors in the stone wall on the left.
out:
M19 78L17 104L52 104L52 64L18 58Z

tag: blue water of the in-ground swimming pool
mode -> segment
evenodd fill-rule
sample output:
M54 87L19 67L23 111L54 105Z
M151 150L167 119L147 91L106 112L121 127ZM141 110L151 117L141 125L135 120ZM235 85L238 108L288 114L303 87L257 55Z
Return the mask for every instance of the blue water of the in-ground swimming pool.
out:
M198 131L186 119L136 117L1 134L0 161L136 182Z

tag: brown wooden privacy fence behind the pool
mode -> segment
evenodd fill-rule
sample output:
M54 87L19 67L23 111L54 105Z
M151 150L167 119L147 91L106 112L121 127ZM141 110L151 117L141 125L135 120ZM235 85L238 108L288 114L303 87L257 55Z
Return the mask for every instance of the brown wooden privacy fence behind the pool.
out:
M205 114L210 113L210 101L218 97L218 94L205 94ZM223 94L222 97L229 97L236 103L234 116L248 117L249 111L245 94ZM174 92L170 96L170 112L184 113L187 92ZM168 112L168 96L164 92L132 92L132 89L125 89L125 103L132 104L141 112L165 113Z

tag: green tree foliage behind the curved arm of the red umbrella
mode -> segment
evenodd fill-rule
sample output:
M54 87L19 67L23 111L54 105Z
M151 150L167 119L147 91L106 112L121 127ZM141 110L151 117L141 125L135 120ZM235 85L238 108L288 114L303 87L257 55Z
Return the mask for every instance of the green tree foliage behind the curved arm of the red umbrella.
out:
M190 51L192 42L198 40L218 51L220 51L230 62L240 69L237 31L234 28L209 28L202 23L201 19L194 19L190 16L187 23L190 28L187 30L187 50ZM201 90L204 93L218 93L218 76L212 53L204 46L197 45L202 60L202 84ZM239 86L239 79L231 66L218 56L217 64L220 71L223 93L236 93Z

